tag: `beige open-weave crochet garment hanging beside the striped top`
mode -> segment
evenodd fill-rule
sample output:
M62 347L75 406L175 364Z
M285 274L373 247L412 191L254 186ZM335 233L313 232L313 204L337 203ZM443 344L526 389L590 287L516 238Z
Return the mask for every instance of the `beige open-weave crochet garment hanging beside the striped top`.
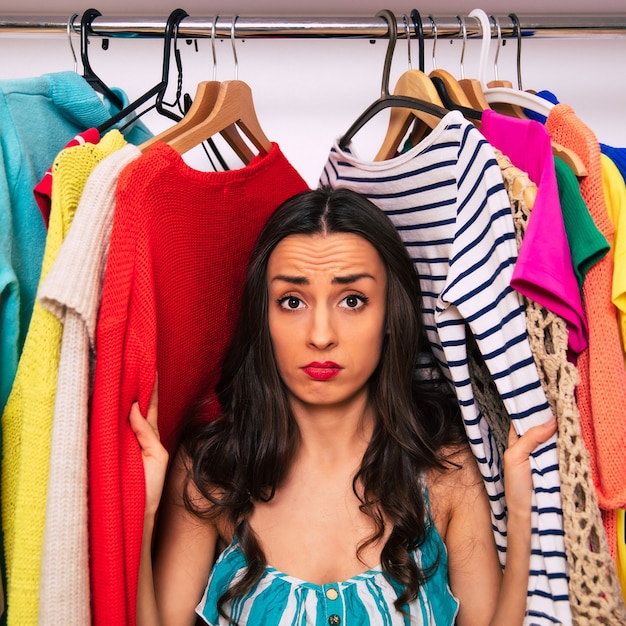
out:
M511 198L517 244L521 246L532 210L534 184L507 157L498 153L497 157ZM558 422L557 449L573 623L618 626L626 623L626 610L591 480L589 453L580 434L574 397L578 372L567 360L567 327L556 314L528 298L524 301L533 358Z

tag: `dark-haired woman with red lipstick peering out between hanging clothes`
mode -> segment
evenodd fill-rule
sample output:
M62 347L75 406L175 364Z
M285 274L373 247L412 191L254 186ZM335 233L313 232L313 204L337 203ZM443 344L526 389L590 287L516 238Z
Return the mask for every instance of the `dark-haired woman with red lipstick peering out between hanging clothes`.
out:
M190 433L162 500L156 400L130 416L146 473L138 624L193 624L196 606L209 624L522 623L528 455L556 426L511 431L502 573L456 402L415 375L419 294L394 226L354 192L274 213L223 364L223 417Z

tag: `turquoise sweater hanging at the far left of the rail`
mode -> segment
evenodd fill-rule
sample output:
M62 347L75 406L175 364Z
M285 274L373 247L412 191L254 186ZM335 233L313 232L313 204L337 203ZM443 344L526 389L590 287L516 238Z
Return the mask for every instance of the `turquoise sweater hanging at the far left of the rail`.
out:
M28 330L46 240L33 188L70 139L114 112L76 72L0 81L0 414ZM139 122L126 138L140 143L150 136Z

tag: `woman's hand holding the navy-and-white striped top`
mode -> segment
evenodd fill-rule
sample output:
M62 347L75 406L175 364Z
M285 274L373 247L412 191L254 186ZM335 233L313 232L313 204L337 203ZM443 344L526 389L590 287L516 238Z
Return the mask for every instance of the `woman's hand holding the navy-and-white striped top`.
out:
M509 518L512 515L530 518L533 484L529 456L555 432L554 418L529 428L521 437L511 424L509 446L504 453L504 495Z

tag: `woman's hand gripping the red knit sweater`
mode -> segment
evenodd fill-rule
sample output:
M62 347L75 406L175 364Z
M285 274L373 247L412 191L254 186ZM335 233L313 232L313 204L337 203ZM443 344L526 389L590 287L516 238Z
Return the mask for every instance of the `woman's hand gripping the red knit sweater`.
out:
M148 415L144 417L139 404L133 403L129 421L132 431L137 437L143 458L143 470L146 480L146 516L154 516L159 507L169 455L163 447L158 428L158 381L150 396Z

